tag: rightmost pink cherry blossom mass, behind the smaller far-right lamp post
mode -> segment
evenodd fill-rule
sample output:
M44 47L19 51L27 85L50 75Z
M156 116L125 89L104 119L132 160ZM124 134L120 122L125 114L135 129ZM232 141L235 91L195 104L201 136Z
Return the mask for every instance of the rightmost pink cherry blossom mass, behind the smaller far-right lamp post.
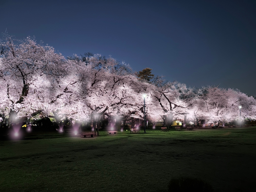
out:
M255 99L239 90L206 86L197 89L196 95L191 108L195 121L232 121L239 118L239 106L242 106L243 118L255 119Z

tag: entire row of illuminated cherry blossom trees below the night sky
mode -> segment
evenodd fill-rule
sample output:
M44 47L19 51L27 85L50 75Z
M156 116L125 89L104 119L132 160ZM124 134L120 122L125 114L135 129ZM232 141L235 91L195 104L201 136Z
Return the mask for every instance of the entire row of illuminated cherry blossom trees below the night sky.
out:
M174 119L229 122L256 119L256 100L239 90L218 86L187 87L151 74L150 68L133 72L112 57L100 54L65 58L53 47L4 35L0 41L0 121L34 121L53 117L77 122L102 116L121 121L143 119L143 94L151 122Z

